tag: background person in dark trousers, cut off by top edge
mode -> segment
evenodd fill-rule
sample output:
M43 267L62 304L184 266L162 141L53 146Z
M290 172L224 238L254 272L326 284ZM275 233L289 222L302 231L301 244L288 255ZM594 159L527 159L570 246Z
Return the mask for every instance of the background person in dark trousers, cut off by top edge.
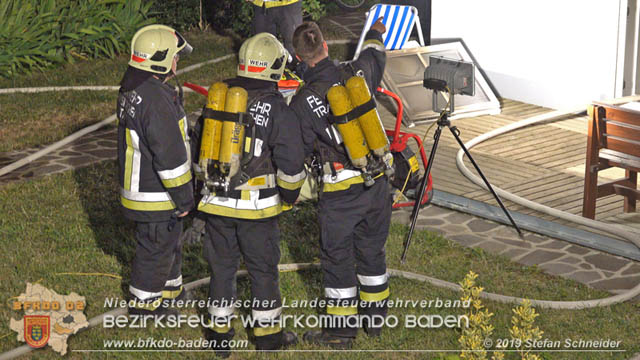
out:
M252 4L253 34L268 32L277 36L276 28L284 41L284 47L295 61L293 31L302 24L302 0L246 0Z

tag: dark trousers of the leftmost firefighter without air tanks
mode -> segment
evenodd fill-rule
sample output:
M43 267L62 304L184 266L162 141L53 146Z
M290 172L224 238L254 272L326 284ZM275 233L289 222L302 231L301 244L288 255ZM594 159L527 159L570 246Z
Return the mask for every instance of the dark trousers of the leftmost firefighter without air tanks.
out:
M182 292L182 221L136 222L136 255L129 292L138 310L158 309L160 299Z

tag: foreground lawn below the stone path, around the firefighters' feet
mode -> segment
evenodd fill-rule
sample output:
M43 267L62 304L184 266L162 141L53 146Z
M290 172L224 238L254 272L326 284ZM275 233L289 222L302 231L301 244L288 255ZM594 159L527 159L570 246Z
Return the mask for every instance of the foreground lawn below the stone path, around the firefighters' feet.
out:
M132 224L119 213L117 202L115 162L105 162L63 174L56 174L24 183L14 183L0 188L0 303L7 303L12 296L25 290L25 283L39 281L40 284L60 294L72 291L86 297L88 307L85 314L90 318L105 312L106 297L126 295L129 279L129 263L133 257L134 236ZM315 207L303 204L295 211L280 218L282 233L281 263L309 262L318 254L318 228ZM460 281L473 270L480 274L478 283L487 291L527 298L551 300L595 299L607 293L587 288L579 283L546 275L535 267L524 267L505 258L487 254L481 249L461 247L441 236L418 231L415 234L411 254L406 265L399 264L402 240L406 227L394 224L387 243L387 259L390 268L426 274L452 282ZM61 272L110 273L122 276L123 280L109 277L85 277L57 275ZM206 263L201 256L201 245L185 249L183 266L185 281L208 276ZM246 279L239 280L238 291L248 298ZM321 276L317 270L281 274L281 291L284 297L313 299L322 296ZM424 283L400 278L391 279L393 299L457 299L458 293L436 288ZM206 290L196 292L198 298L206 297ZM494 338L508 337L512 306L485 302L495 313ZM613 339L622 341L627 353L545 353L545 359L626 359L640 351L640 311L638 304L618 304L590 310L559 311L538 309L540 317L536 324L550 340ZM244 310L246 311L246 309ZM188 310L197 313L197 310ZM316 309L290 308L288 314L315 314ZM458 309L413 309L393 308L392 315L404 318L415 314L459 315ZM9 330L9 319L20 319L21 312L0 307L0 352L22 345L15 333ZM296 329L299 333L304 329ZM246 331L236 326L237 338L246 339ZM69 340L71 350L103 349L103 341L109 339L169 338L177 340L197 339L200 329L103 329L97 327L73 336ZM380 339L371 340L359 336L355 349L457 349L459 330L456 329L405 329L398 326L385 330ZM250 349L253 345L250 345ZM300 344L296 350L313 350ZM51 349L37 351L45 358L57 358ZM80 358L82 353L71 352L71 358ZM92 353L92 358L165 358L166 353ZM281 353L269 356L274 359L296 359L299 353ZM385 353L366 352L337 355L335 353L305 353L310 359L422 359L438 354L415 352ZM185 358L204 358L211 354L185 353ZM255 353L238 353L232 358L262 358ZM513 354L511 357L515 358Z

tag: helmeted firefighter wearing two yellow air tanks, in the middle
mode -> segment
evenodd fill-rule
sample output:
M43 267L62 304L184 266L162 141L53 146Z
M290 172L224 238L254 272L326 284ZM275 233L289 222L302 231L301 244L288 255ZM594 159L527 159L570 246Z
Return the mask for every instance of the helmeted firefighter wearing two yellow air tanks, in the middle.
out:
M275 350L297 342L295 333L284 332L278 323L278 215L291 208L306 178L302 140L295 114L277 90L287 60L282 44L260 33L242 44L238 58L237 77L225 83L229 92L240 87L248 93L246 110L254 121L255 139L248 137L249 130L244 136L246 144L255 145L242 146L243 156L254 148L242 169L249 180L226 192L213 191L198 205L206 221L203 246L211 270L208 310L213 322L205 332L217 344L234 336L228 320L235 311L235 274L242 256L251 281L252 318L262 322L253 328L256 348ZM252 189L251 184L260 185ZM214 349L229 355L228 346Z

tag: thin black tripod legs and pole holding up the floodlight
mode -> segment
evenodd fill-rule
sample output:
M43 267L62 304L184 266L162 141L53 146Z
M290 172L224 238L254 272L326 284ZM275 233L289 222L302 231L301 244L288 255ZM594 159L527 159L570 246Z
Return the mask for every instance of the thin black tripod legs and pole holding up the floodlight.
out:
M436 109L437 96L438 96L438 92L434 90L433 92L434 110ZM478 164L475 162L475 160L469 153L469 150L467 150L467 148L464 146L464 143L460 139L460 130L458 130L458 128L455 126L451 126L449 115L451 115L451 112L453 112L453 94L450 94L450 104L451 104L450 110L445 107L445 109L442 110L442 113L440 114L438 121L436 122L436 124L438 125L438 128L436 129L436 132L433 136L433 146L431 147L431 154L429 154L429 161L427 163L427 169L425 170L424 178L422 178L422 182L420 183L420 192L418 195L418 199L422 199L422 197L424 196L424 192L427 188L427 181L429 179L429 174L431 174L431 167L433 166L433 160L435 159L436 150L438 149L438 143L440 142L440 135L442 134L442 128L447 127L451 131L451 134L453 134L453 137L455 137L456 141L458 142L458 145L460 145L462 150L464 150L464 153L467 155L467 157L475 167L478 174L480 174L480 177L484 181L485 185L487 185L487 188L489 189L491 194L493 194L493 197L496 199L498 204L500 204L502 211L505 213L505 215L511 222L511 225L513 225L513 227L516 229L516 231L518 232L518 235L522 237L522 231L520 230L516 222L511 217L511 214L509 214L509 211L502 203L502 200L500 200L500 197L498 196L498 194L496 194L496 192L493 190L493 187L489 183L489 180L487 180L487 178L484 176L484 174L482 173L482 170L480 170L480 167L478 166ZM407 259L407 252L409 250L409 245L411 244L411 236L413 235L413 231L416 227L416 220L418 219L419 211L420 211L420 202L416 201L416 204L414 205L413 211L411 213L411 226L409 227L409 233L407 234L407 238L405 239L405 242L404 242L404 251L402 252L402 258L401 258L401 262L403 264Z

